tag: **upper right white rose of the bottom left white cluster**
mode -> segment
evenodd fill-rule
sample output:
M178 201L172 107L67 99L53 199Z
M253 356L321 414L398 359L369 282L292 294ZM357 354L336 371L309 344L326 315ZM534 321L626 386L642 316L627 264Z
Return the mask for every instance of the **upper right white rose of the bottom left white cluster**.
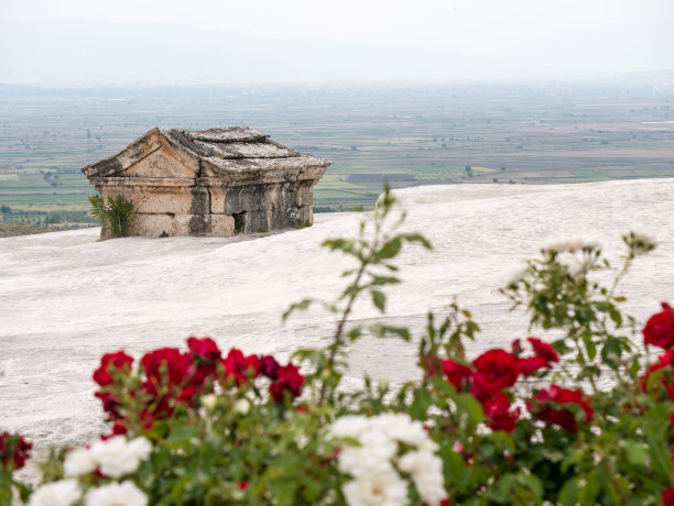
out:
M150 457L152 446L145 438L127 441L123 436L115 436L107 441L96 441L89 451L102 474L120 477L138 470L141 461Z

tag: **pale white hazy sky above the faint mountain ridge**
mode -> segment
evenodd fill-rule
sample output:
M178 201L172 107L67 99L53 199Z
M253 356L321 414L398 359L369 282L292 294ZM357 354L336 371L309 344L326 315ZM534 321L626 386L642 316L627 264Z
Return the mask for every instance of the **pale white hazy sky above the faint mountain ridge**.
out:
M568 31L674 20L674 0L0 0L0 19L59 18L497 56Z

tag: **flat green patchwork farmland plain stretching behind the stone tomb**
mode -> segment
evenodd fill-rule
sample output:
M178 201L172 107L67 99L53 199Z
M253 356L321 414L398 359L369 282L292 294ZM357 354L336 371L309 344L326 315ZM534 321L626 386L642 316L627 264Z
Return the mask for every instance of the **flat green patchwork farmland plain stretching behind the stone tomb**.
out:
M0 91L6 222L87 224L93 188L79 169L155 125L247 124L331 160L316 211L368 208L383 179L406 187L674 176L674 95L650 85Z

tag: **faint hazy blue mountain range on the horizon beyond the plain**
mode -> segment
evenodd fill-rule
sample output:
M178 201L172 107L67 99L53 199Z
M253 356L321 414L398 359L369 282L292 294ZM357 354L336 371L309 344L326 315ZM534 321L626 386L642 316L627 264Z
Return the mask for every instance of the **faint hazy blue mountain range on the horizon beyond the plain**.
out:
M617 68L674 68L674 52L667 45L672 33L672 23L642 26L629 36L575 33L568 40L523 47L509 62L374 44L280 41L168 23L0 21L0 82L184 85L586 76ZM622 41L619 47L599 43L613 41L610 37Z

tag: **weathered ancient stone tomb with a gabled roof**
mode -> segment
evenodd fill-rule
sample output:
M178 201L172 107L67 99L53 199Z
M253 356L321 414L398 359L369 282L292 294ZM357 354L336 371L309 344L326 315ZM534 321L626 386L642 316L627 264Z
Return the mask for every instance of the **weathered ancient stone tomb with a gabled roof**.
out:
M133 200L131 235L228 237L312 224L329 165L247 127L155 128L81 172L105 200Z

